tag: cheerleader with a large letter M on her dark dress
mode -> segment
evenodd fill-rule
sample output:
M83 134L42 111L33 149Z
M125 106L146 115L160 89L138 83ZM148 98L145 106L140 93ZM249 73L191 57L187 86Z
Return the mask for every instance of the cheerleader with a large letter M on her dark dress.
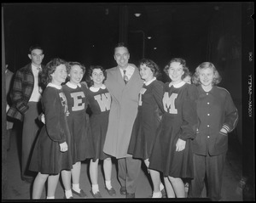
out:
M164 115L149 157L149 168L163 172L168 198L185 197L183 178L193 178L191 141L195 138L197 114L195 86L183 82L188 68L174 58L165 67L172 82L164 86Z

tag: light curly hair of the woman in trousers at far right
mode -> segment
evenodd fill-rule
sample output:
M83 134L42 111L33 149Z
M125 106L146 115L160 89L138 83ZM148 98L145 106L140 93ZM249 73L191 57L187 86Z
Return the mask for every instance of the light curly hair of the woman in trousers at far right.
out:
M219 82L221 82L222 78L218 74L218 70L215 68L215 66L211 62L203 62L201 65L198 65L197 68L195 69L195 74L192 76L192 82L197 86L201 85L200 82L200 70L204 69L212 69L213 70L213 80L212 80L212 85L217 85Z

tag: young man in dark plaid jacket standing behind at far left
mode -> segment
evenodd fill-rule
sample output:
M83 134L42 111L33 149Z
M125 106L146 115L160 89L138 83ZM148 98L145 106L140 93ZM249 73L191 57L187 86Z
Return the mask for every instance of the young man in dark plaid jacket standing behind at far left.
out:
M29 59L32 62L16 71L14 86L11 89L10 97L12 106L7 116L23 122L22 146L21 146L21 179L32 183L33 174L27 170L32 146L37 138L39 123L38 116L42 112L40 77L44 65L44 50L38 45L29 48Z

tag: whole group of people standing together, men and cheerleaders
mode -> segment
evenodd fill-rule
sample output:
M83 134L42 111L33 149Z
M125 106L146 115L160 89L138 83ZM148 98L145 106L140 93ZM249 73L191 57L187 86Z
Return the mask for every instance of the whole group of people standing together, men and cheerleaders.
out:
M40 47L32 47L29 57L32 64L15 75L8 116L23 121L21 175L38 172L33 199L41 197L47 179L47 199L54 199L60 173L64 198L86 197L79 186L85 159L90 159L91 195L102 197L99 160L105 189L116 195L112 157L118 161L119 193L126 198L136 197L143 161L153 183L152 198L184 198L185 183L188 196L199 198L207 175L208 197L221 199L227 134L236 127L238 113L230 93L216 86L221 77L212 63L199 65L185 82L186 61L173 58L164 69L171 82L163 83L153 60L141 59L137 68L129 63L125 43L119 43L113 54L117 66L90 66L86 83L85 67L78 62L52 59L44 67ZM37 109L40 99L42 110ZM44 123L38 136L36 121Z

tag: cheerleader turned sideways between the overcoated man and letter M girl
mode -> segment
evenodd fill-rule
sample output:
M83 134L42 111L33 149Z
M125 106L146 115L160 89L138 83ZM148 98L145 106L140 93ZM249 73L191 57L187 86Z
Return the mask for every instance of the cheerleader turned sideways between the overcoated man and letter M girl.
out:
M143 159L148 168L148 157L154 144L156 129L159 127L163 114L163 82L156 80L160 70L151 59L141 59L139 70L144 80L143 88L139 93L137 118L134 122L128 154L133 158ZM160 183L160 172L149 169L153 182L152 198L166 196L164 185ZM160 192L161 191L161 192Z

